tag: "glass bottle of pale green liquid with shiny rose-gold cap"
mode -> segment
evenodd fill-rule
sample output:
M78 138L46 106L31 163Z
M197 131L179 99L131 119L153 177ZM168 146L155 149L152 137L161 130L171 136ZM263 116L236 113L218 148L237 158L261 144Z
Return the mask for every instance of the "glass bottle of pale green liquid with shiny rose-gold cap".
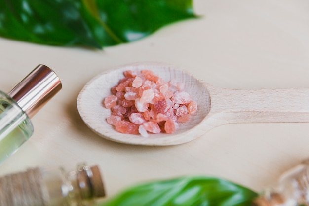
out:
M38 65L9 93L0 91L0 165L31 137L30 118L60 89L58 76Z

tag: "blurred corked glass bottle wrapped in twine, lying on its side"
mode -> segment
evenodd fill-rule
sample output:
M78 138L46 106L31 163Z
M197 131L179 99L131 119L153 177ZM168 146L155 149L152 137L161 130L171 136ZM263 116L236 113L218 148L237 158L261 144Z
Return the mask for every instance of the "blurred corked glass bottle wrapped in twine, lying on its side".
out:
M104 196L97 165L69 172L36 167L0 178L1 206L94 206Z

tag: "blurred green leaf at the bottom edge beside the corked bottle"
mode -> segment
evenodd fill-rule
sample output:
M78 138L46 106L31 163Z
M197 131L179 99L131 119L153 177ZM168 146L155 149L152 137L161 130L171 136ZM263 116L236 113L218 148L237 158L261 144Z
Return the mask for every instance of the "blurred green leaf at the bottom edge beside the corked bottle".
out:
M250 206L254 191L211 177L182 177L128 188L101 206Z

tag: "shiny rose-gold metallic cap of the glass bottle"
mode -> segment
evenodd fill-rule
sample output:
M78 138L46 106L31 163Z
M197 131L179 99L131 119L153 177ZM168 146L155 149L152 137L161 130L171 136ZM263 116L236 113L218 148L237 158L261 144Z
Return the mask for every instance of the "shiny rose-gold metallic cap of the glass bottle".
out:
M61 87L58 76L49 67L40 64L8 95L32 118Z

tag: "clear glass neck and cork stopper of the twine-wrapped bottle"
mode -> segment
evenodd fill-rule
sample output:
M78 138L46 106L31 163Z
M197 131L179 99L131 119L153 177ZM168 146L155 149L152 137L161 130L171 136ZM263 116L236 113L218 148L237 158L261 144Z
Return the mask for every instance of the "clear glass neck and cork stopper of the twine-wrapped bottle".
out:
M104 197L104 186L98 166L79 165L77 170L43 172L47 206L91 206Z

